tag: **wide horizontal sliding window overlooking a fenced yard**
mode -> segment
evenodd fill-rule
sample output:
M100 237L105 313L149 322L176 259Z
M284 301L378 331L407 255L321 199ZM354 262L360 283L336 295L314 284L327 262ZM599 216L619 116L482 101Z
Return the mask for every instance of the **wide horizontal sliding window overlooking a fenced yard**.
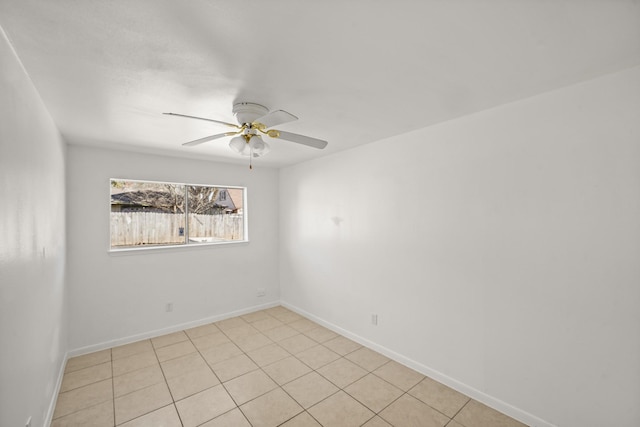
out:
M111 249L244 242L245 190L111 179Z

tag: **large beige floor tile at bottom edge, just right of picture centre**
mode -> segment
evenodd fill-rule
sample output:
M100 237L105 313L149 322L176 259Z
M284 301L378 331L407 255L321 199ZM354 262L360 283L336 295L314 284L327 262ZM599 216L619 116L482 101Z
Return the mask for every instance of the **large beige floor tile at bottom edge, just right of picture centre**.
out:
M323 426L359 427L375 414L343 391L309 409Z

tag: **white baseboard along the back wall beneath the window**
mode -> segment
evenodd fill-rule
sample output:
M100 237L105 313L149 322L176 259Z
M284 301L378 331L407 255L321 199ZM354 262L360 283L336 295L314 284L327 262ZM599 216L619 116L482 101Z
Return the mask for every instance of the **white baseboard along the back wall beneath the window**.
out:
M220 320L228 319L230 317L242 316L243 314L248 314L258 310L264 310L265 308L276 307L280 305L280 301L272 301L266 304L260 304L251 306L248 308L243 308L241 310L235 310L223 314L218 314L211 317L206 317L204 319L199 319L191 322L181 323L178 325L172 325L162 329L156 329L153 331L144 332L141 334L131 335L125 338L118 338L111 341L105 341L98 344L92 344L85 347L76 348L74 350L70 350L68 353L69 357L81 356L83 354L93 353L94 351L105 350L107 348L117 347L119 345L131 344L136 341L145 340L149 338L159 337L161 335L170 334L173 332L182 331L185 329L195 328L197 326L206 325L208 323L219 322Z

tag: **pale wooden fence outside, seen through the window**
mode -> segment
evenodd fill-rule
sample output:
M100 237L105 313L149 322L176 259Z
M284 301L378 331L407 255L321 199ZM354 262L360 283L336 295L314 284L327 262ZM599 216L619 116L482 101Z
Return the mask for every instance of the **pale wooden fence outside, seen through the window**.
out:
M183 214L111 212L111 247L184 244ZM194 242L242 240L242 215L189 214L189 239Z

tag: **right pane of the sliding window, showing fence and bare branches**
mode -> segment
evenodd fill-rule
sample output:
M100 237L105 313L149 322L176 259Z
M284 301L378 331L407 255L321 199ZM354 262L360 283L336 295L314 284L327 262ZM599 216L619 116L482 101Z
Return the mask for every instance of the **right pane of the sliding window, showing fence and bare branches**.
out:
M244 240L242 188L187 186L189 243Z

